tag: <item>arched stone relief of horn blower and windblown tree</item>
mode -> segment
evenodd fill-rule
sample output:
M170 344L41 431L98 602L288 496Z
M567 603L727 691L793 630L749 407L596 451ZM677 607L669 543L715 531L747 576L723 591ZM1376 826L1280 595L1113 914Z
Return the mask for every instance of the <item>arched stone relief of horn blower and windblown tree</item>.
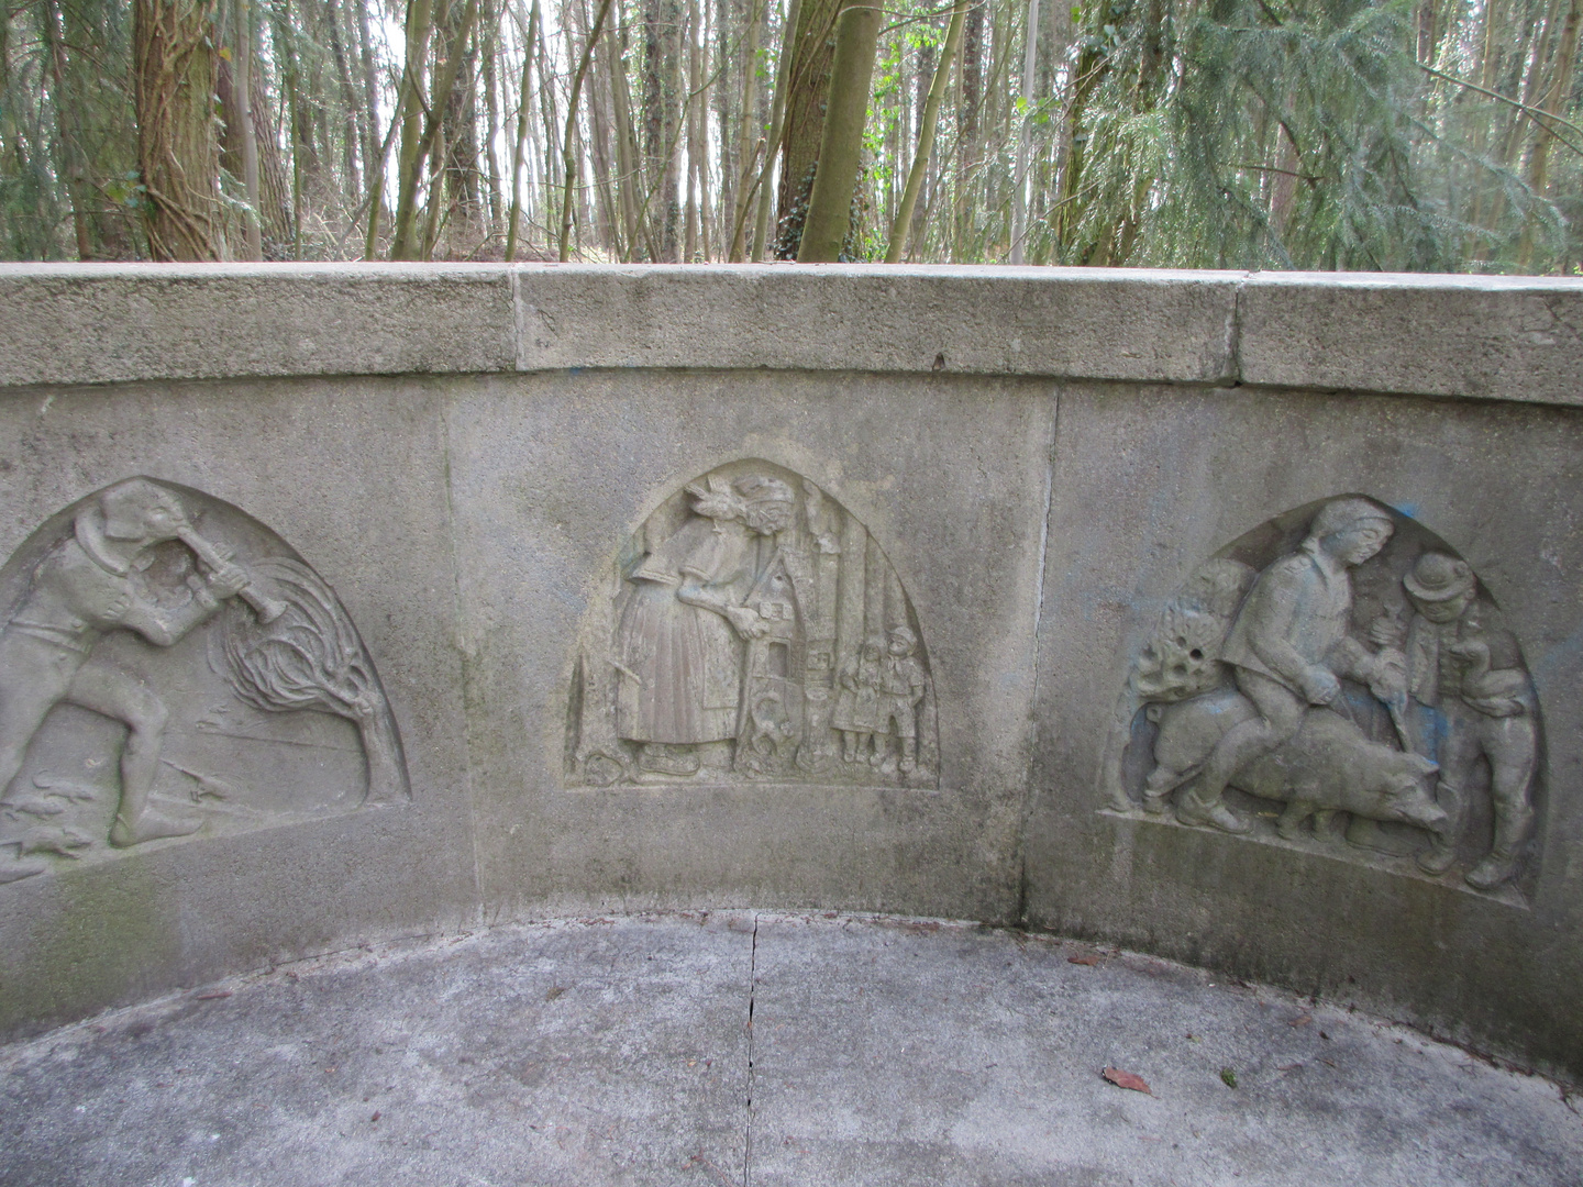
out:
M116 483L17 549L0 606L0 882L410 794L345 608L234 506Z

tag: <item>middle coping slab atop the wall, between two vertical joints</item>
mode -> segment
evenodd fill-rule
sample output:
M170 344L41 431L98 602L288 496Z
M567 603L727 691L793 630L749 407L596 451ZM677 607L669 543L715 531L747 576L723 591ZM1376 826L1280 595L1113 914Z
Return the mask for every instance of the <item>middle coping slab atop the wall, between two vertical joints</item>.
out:
M519 267L518 366L771 367L1213 383L1236 272Z

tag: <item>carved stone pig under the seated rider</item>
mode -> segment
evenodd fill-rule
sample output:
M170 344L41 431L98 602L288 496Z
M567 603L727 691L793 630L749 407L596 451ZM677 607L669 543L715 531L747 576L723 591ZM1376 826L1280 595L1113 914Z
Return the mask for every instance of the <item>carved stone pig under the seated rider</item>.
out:
M1149 776L1149 788L1159 791L1186 782L1220 734L1252 715L1254 707L1233 688L1160 706L1160 733L1154 742L1159 766ZM1447 818L1425 779L1437 769L1428 758L1371 741L1330 709L1309 709L1296 736L1238 769L1232 787L1262 799L1284 801L1287 810L1277 831L1287 839L1320 810L1434 831Z

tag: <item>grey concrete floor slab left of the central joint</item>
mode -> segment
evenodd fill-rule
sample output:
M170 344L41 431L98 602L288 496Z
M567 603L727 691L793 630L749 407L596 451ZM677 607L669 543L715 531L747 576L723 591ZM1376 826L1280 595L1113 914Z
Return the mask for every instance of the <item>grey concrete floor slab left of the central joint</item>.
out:
M0 1054L5 1181L739 1179L752 946L752 916L586 920L114 1016Z

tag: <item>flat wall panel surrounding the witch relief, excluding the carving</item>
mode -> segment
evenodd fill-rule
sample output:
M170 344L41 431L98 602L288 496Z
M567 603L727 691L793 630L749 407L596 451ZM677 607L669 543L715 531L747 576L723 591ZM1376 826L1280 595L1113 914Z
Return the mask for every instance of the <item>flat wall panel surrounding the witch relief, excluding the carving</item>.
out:
M1010 918L1053 416L1043 381L943 375L570 372L459 386L451 499L484 899L507 912L928 902ZM568 771L579 647L589 617L609 611L617 562L636 560L624 546L684 484L750 459L815 481L899 578L939 704L937 788L899 771L822 783L795 768L796 782L704 768L598 788Z

